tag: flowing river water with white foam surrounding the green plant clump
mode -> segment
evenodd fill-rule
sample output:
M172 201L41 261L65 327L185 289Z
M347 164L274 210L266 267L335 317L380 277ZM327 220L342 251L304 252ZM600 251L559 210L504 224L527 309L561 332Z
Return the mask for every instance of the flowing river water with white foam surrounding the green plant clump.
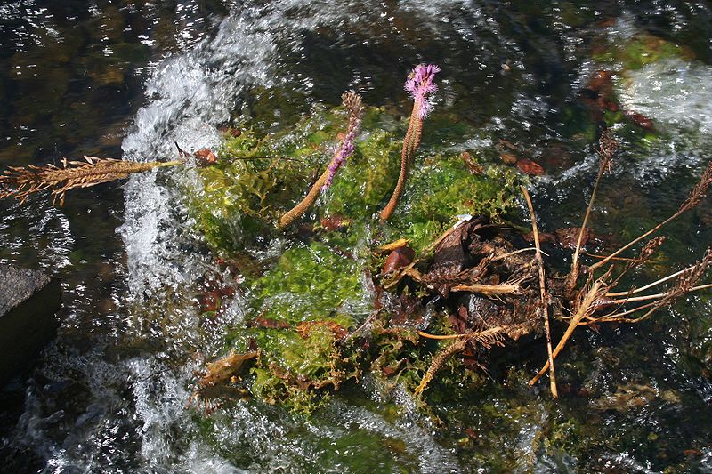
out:
M442 68L436 108L483 131L443 145L497 161L502 139L544 165L530 190L548 231L580 225L585 210L601 117L581 94L599 68L619 73L621 107L654 132L619 122L596 233L623 240L666 218L712 156L704 3L11 0L0 32L2 167L164 159L176 141L217 148L220 126L276 132L348 89L407 114L402 83L421 62ZM640 37L682 53L605 62ZM406 394L382 399L368 378L309 419L256 400L209 417L187 408L194 372L244 316L239 297L217 317L199 311L201 282L219 270L175 186L195 179L145 173L72 192L61 208L0 202L0 261L44 269L64 291L56 340L0 390L2 470L712 471L709 293L635 327L578 333L559 401L526 387L544 357L528 349L532 364L514 362L521 380L492 374L443 402L457 426L433 424ZM700 258L711 207L667 231L651 275Z

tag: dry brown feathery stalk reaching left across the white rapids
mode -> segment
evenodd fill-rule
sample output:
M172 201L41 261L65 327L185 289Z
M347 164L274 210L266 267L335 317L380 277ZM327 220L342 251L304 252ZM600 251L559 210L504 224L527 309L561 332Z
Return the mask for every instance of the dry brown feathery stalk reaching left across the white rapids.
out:
M183 161L139 163L97 157L85 157L85 160L64 158L61 167L11 166L0 175L0 198L14 197L24 203L30 194L52 189L53 204L59 200L60 205L64 205L64 196L69 189L89 188L102 182L123 180L133 173L183 164Z

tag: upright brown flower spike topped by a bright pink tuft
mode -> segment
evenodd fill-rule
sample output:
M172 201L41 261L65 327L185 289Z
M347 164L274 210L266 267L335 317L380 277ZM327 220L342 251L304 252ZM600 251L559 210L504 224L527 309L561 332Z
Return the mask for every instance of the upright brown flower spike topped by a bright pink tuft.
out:
M429 64L428 66L420 64L413 69L406 81L405 89L413 99L413 110L410 112L408 132L406 132L406 136L403 139L401 174L398 177L398 182L395 185L391 199L379 214L381 221L391 219L398 205L398 201L403 195L403 190L406 187L406 181L410 173L410 166L420 146L420 138L423 133L423 120L430 113L431 105L428 101L428 95L438 90L438 86L434 83L434 80L435 75L439 72L440 68L434 64Z

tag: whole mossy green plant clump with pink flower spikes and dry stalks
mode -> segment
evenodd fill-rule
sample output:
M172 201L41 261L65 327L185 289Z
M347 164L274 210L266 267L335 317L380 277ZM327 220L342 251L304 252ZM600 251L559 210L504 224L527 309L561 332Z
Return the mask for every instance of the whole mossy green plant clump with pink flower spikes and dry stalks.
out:
M240 275L247 301L244 324L226 338L227 355L208 363L197 380L192 399L198 404L212 409L216 398L254 395L309 413L332 390L370 374L385 390L401 387L425 406L433 384L456 390L465 378L476 378L490 349L542 334L546 363L530 384L548 373L556 398L554 361L579 327L638 323L685 294L712 287L701 283L712 266L708 250L686 269L616 291L627 272L651 261L664 238L643 241L700 204L712 186L712 162L676 213L585 268L579 260L588 222L618 149L612 133L604 131L594 189L581 227L571 232L575 246L565 275L546 265L551 262L541 250L526 178L512 168L481 165L467 152L433 147L409 178L439 70L421 65L409 77L406 89L414 105L402 144L392 130L383 130L386 122L397 123L384 108L365 108L358 94L344 93L347 130L319 178L315 169L323 169L323 151L343 127L343 108L317 109L277 136L228 130L220 161L209 150L194 154L210 166L198 168L197 185L182 183L189 213L208 247ZM433 121L434 133L441 122L448 125ZM356 141L361 128L367 133ZM473 130L461 125L460 133L470 136ZM401 199L409 213L378 225L372 215L389 195L398 173L391 158L399 149L398 183L379 217L389 220ZM190 156L180 148L179 153L181 160L170 162L87 157L86 163L65 160L63 167L11 168L0 177L0 196L24 202L52 189L62 202L69 189L182 165ZM352 164L342 169L347 159ZM315 182L300 200L310 181ZM521 207L518 192L529 209L534 246L522 244L522 229L503 219ZM278 229L312 206L320 219L305 220L279 255L268 252L256 261L248 254L247 245L265 250L272 237L284 239ZM638 244L637 256L619 257ZM641 294L666 283L665 291ZM554 341L551 325L557 322L564 332Z

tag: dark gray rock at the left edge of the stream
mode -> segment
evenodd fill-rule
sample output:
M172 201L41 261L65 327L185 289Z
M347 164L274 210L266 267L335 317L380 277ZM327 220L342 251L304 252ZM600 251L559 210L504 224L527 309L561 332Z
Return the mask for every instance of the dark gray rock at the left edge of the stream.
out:
M0 386L31 367L54 339L60 305L56 279L0 263Z

